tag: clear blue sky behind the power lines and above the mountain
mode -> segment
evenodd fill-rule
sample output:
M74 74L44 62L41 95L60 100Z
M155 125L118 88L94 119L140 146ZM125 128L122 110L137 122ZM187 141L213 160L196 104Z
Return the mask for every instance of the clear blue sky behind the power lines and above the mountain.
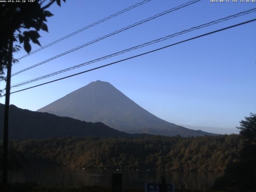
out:
M12 84L256 7L256 3L230 1L210 3L210 0L202 0L18 74L12 78ZM54 5L49 9L54 14L48 18L49 33L40 31L42 37L39 40L42 45L46 45L137 2L140 0L67 0L66 4L62 2L61 8ZM185 2L188 0L152 0L20 60L20 63L13 66L12 73ZM12 91L254 18L255 12L52 78L13 88ZM255 30L256 22L238 26L106 68L12 94L10 103L20 108L37 110L92 81L102 80L110 82L134 102L166 121L191 126L235 128L244 116L249 116L250 112L256 113ZM32 46L32 50L37 48L39 46ZM24 54L22 50L15 57ZM0 86L3 88L4 84L1 83ZM4 103L4 98L0 102Z

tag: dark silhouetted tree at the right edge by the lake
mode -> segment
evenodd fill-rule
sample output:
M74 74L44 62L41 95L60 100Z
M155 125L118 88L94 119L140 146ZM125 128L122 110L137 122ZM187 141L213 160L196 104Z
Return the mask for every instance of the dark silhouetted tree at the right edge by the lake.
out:
M256 114L240 121L242 149L239 158L228 164L224 176L216 180L214 189L256 191Z

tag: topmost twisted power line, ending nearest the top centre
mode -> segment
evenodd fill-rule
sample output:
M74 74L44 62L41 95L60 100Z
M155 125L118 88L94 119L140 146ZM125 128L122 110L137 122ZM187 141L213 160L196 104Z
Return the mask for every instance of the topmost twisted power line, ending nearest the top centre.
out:
M108 17L102 19L102 20L99 20L99 21L97 21L97 22L94 22L93 24L90 24L90 25L88 25L88 26L86 26L86 27L83 27L83 28L81 28L81 29L79 29L79 30L77 30L77 31L75 31L75 32L73 32L73 33L70 33L70 34L68 34L68 35L66 35L66 36L64 36L64 37L62 37L62 38L60 38L60 39L54 41L54 42L51 42L51 43L49 43L49 44L47 44L47 45L45 45L45 46L40 47L40 48L37 49L37 50L34 50L34 51L30 52L29 54L26 54L26 55L24 55L24 56L18 58L18 60L21 60L21 59L23 59L23 58L25 58L25 57L27 57L27 56L30 56L30 55L32 55L32 54L34 54L34 53L36 53L36 52L38 52L38 51L40 51L40 50L43 50L43 49L45 49L45 48L47 48L47 47L50 47L50 46L52 46L52 45L54 45L54 44L56 44L56 43L58 43L58 42L60 42L60 41L62 41L62 40L64 40L64 39L66 39L66 38L69 38L69 37L71 37L71 36L73 36L73 35L75 35L75 34L78 34L78 33L82 32L82 31L88 29L88 28L91 28L91 27L93 27L93 26L95 26L95 25L98 25L98 24L100 24L100 23L102 23L102 22L104 22L104 21L106 21L106 20L109 20L109 19L111 19L111 18L113 18L113 17L116 17L116 16L118 16L118 15L124 13L124 12L127 12L127 11L129 11L129 10L132 10L133 8L136 8L136 7L138 7L138 6L140 6L140 5L143 5L143 4L145 4L145 3L147 3L147 2L150 2L150 1L151 1L151 0L144 0L144 1L139 2L139 3L137 3L137 4L133 5L133 6L130 6L130 7L126 8L126 9L124 9L124 10L122 10L122 11L119 11L119 12L117 12L117 13L115 13L115 14L112 14L112 15L110 15L110 16L108 16Z

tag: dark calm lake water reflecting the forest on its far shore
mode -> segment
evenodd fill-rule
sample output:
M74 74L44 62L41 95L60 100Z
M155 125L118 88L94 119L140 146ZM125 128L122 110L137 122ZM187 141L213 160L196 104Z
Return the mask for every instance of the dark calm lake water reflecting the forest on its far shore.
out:
M63 167L30 166L22 171L10 171L9 182L39 182L45 186L111 186L112 173L123 174L123 186L144 186L144 182L158 182L164 174L166 182L176 187L185 184L190 189L209 189L220 173L194 173L143 170L70 169Z

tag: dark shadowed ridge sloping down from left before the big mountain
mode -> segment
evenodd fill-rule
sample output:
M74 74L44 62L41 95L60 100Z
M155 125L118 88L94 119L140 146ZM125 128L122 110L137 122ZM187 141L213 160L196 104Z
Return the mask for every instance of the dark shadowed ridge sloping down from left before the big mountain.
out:
M3 137L4 104L0 104L0 138ZM131 137L138 136L120 132L101 122L85 122L54 114L34 112L10 105L9 138L25 140L29 138L63 137Z

